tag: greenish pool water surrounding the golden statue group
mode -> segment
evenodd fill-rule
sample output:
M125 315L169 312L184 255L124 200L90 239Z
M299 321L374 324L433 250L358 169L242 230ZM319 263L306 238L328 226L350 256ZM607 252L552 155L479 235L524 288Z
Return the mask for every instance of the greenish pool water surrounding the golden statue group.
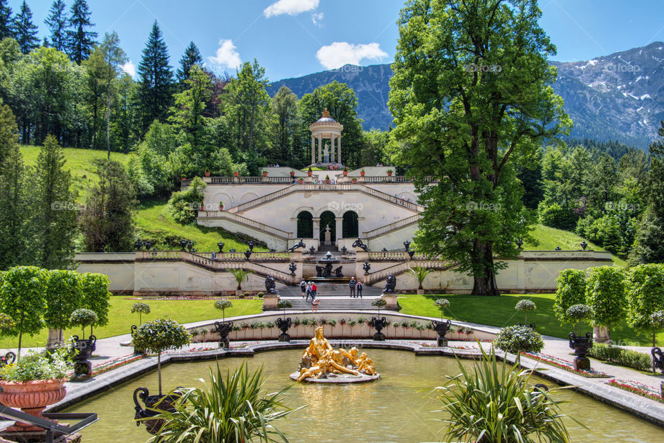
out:
M413 352L369 350L381 373L380 380L369 384L321 386L295 384L287 404L306 405L302 411L276 422L288 433L291 442L332 443L361 442L439 442L443 435L445 414L434 412L441 408L430 392L441 386L444 375L459 372L452 357L416 356ZM299 363L300 351L283 350L261 352L248 359L250 369L264 365L270 390L292 384L288 374ZM225 371L236 368L242 359L219 360ZM472 361L463 361L471 366ZM201 378L208 378L208 366L215 361L170 364L163 368L164 386L201 386ZM550 381L538 380L548 386ZM86 400L66 412L96 412L100 421L82 431L83 441L95 443L145 442L150 437L145 426L133 422L131 395L138 386L157 393L156 373L149 373L117 386L106 393ZM597 402L586 395L564 390L557 398L570 400L563 412L590 429L566 420L573 442L664 442L664 429L639 420L616 408Z

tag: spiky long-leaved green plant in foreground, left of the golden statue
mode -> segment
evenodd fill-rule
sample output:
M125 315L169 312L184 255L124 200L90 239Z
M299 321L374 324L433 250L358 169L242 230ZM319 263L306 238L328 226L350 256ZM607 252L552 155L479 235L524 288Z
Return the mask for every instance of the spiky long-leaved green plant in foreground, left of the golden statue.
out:
M163 443L288 442L273 422L301 408L286 407L287 388L266 394L263 368L249 373L245 363L223 377L219 365L208 368L210 384L186 390L174 411L156 419L166 420L155 436ZM180 389L180 393L183 391ZM277 440L277 438L279 440Z

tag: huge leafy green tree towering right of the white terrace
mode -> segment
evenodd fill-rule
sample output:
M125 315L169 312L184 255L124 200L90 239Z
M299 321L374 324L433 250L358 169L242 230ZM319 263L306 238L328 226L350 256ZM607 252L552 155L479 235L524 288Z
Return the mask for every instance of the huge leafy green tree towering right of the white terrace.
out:
M497 295L494 257L528 238L515 163L569 126L541 16L535 0L412 0L398 20L389 108L427 207L416 243L459 263L472 294Z

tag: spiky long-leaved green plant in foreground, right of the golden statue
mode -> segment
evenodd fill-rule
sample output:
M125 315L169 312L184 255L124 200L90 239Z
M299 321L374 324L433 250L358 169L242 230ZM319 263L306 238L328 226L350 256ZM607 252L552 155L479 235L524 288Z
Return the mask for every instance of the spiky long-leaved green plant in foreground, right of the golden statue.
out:
M553 398L555 391L564 388L547 392L531 386L531 370L506 364L499 368L493 348L489 355L482 350L482 355L472 372L457 359L461 373L447 376L448 383L436 388L452 415L445 420L448 429L443 441L569 442L560 413L560 405L566 402Z

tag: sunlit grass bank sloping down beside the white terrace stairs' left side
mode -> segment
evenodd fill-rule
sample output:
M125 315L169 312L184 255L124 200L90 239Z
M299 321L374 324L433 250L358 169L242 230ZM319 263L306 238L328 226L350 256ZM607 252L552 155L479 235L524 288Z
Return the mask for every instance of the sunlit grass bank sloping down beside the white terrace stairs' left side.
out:
M156 241L158 249L162 245L171 245L167 249L172 249L180 238L187 238L196 241L196 249L200 252L218 251L216 243L220 240L225 243L223 250L226 252L231 248L238 252L246 251L246 242L222 229L176 223L168 214L165 214L165 207L166 202L163 201L146 202L140 205L136 212L138 236ZM254 250L267 251L268 249L256 246Z

